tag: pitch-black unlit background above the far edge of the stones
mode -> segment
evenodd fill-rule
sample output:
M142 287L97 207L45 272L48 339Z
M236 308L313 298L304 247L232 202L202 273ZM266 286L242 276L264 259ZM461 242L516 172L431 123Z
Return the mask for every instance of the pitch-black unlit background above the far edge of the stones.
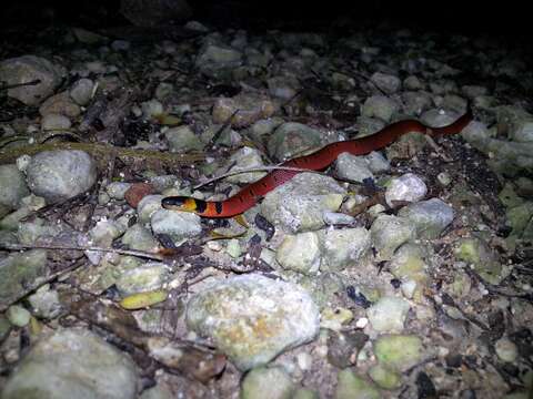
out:
M218 29L342 31L375 28L386 22L413 31L489 33L521 40L525 45L531 45L529 37L533 30L527 1L514 0L499 4L469 0L191 0L189 4L193 9L191 19ZM0 31L17 25L99 28L129 24L119 8L119 0L4 0L0 12Z

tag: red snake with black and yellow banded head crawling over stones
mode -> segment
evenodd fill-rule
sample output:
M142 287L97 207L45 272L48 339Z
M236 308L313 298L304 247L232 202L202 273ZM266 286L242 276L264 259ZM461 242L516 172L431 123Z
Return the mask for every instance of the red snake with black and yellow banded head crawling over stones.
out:
M372 135L328 144L310 155L285 161L280 166L322 171L335 161L341 153L348 152L353 155L364 155L372 151L383 149L395 142L403 134L411 132L423 133L431 136L456 134L472 120L472 111L469 108L466 113L455 122L442 127L431 127L416 120L399 121ZM303 171L274 170L224 201L202 201L187 196L169 196L162 200L161 205L167 209L193 212L204 217L231 217L251 208L266 193L302 172Z

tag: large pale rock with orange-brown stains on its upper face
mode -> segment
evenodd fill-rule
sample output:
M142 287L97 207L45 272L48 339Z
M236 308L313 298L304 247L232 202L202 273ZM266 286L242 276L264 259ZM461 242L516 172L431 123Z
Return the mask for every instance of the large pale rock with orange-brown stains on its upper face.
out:
M218 282L188 304L187 324L244 371L312 340L319 309L298 285L260 275Z

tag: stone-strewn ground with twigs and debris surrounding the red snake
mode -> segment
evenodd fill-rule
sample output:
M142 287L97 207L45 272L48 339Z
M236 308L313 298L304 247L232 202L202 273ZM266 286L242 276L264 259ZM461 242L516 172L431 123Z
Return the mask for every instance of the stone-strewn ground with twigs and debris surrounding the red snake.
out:
M531 398L519 45L390 27L18 33L0 45L2 398ZM245 223L161 208L467 104L460 135L342 154Z

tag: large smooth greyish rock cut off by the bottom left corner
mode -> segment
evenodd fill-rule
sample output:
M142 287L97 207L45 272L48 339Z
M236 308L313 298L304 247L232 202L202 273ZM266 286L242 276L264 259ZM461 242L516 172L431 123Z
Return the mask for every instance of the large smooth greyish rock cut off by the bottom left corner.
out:
M2 399L134 399L130 357L87 329L64 329L38 341L9 377Z

